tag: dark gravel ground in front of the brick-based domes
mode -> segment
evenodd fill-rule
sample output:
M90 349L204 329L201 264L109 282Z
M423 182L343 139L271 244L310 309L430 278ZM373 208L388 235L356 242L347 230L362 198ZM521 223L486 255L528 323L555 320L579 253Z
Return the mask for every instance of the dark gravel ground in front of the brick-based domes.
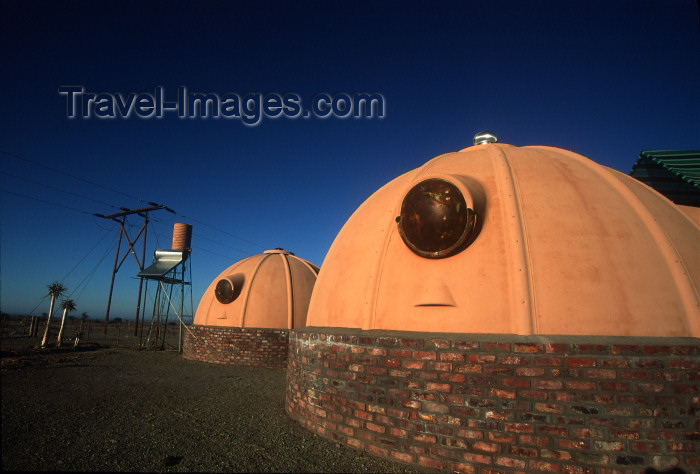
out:
M8 349L6 341L3 471L418 472L292 420L283 369L96 343Z

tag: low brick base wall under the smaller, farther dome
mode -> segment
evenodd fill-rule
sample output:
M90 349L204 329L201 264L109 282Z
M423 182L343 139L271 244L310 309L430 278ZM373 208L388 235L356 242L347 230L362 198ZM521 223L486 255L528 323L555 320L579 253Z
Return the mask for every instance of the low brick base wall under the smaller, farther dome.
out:
M289 330L190 325L185 359L214 364L287 367Z

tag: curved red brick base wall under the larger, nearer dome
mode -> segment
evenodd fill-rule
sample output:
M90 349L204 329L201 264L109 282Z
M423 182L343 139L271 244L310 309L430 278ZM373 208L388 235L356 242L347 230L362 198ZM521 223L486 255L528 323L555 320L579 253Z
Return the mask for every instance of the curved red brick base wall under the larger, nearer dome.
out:
M467 473L700 471L700 340L291 331L286 409Z

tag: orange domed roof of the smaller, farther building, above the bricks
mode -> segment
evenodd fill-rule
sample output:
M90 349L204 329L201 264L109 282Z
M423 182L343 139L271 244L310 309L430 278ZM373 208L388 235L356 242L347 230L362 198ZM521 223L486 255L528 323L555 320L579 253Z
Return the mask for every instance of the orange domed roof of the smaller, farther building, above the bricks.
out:
M318 267L282 249L237 262L204 292L194 324L292 329L304 326Z

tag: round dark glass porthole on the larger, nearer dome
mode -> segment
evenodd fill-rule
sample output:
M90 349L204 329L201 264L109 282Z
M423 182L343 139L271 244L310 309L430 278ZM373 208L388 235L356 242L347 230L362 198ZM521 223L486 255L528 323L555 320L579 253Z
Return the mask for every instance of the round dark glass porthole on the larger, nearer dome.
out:
M444 179L426 179L406 193L396 221L401 238L415 254L444 258L464 248L476 226L476 214L457 186Z

